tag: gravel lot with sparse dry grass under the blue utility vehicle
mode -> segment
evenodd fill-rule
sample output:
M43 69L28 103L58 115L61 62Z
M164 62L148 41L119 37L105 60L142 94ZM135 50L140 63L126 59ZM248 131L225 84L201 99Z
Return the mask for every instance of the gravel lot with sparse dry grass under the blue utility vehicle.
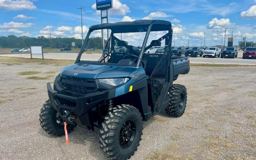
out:
M0 57L0 159L106 159L97 129L75 128L66 146L39 125L46 82L68 63ZM163 111L144 122L131 160L256 159L255 77L255 66L192 66L175 82L188 90L185 114L170 118Z

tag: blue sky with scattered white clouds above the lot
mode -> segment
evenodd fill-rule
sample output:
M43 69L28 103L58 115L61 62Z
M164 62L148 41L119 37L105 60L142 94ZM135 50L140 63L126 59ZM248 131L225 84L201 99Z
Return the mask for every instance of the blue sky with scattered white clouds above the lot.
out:
M96 0L0 0L0 36L44 35L81 38L83 30L101 22ZM219 45L228 28L234 31L234 43L241 36L256 41L256 0L113 0L110 22L140 19L162 19L173 24L176 45Z

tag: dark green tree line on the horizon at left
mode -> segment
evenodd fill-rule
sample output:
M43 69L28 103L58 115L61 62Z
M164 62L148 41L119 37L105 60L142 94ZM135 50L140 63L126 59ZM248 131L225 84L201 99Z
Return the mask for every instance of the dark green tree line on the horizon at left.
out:
M92 37L89 39L89 41L90 44L88 48L102 48L101 37ZM46 38L44 36L34 38L27 36L17 37L14 35L0 36L0 47L2 48L26 48L30 46L42 46L43 48L60 49L63 47L72 47L72 42L75 42L75 48L82 47L82 39L75 38Z

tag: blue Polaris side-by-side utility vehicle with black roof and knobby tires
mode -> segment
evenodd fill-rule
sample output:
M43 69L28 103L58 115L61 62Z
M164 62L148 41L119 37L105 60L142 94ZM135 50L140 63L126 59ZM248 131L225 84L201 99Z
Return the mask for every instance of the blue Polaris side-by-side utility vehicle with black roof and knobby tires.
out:
M90 35L106 29L111 34L101 58L88 60L84 53ZM155 36L160 32L163 35L149 40L155 32ZM172 33L171 23L163 20L90 27L75 63L61 69L53 88L47 83L49 100L43 105L39 119L42 128L51 135L62 136L64 126L67 132L77 125L92 130L97 127L100 147L107 157L112 160L130 158L140 143L143 121L162 109L173 117L184 113L186 88L173 81L179 74L189 72L189 58L172 57ZM130 36L126 41L125 34ZM129 40L141 34L144 34L143 45L135 50L128 45ZM116 45L125 47L127 52L115 50ZM162 46L164 51L145 52L154 46Z

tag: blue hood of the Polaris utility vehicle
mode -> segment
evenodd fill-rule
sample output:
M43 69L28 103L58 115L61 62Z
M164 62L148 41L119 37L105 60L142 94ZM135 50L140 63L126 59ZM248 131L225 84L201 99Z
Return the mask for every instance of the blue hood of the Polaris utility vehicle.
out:
M63 67L61 74L77 78L117 78L117 77L129 77L130 73L134 72L136 67L127 66L110 66L110 65L98 65L98 64L72 64L70 66Z

